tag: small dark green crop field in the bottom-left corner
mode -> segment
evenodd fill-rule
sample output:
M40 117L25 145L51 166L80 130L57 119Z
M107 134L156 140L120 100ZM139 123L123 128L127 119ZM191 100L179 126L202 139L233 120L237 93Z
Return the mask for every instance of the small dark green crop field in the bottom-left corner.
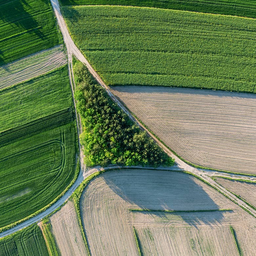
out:
M33 224L21 231L0 239L1 256L48 256L40 227Z

